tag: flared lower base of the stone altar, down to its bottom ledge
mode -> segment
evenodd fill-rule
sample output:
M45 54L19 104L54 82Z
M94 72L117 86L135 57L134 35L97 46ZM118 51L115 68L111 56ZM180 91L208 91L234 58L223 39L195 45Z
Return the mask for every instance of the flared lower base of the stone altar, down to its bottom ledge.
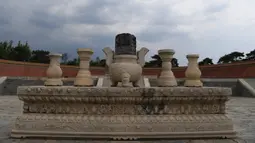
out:
M12 137L92 139L234 138L225 115L79 115L23 114Z

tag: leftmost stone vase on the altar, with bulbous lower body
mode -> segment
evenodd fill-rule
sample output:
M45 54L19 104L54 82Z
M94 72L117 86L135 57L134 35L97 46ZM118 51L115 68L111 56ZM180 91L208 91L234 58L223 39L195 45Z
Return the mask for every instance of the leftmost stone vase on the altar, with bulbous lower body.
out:
M61 86L62 82L62 70L60 68L60 58L62 54L50 54L50 65L46 71L47 79L44 82L45 86Z

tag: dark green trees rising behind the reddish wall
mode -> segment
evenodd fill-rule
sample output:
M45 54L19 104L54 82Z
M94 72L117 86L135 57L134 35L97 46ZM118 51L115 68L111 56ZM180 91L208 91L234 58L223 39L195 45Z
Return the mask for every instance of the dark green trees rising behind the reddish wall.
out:
M0 42L0 59L24 61L24 62L36 62L36 63L49 63L49 51L46 50L32 50L28 42L22 43L18 41L16 45L13 41ZM152 60L145 63L145 67L161 67L162 61L159 55L155 54L151 56ZM255 49L249 53L243 53L234 51L219 58L216 64L222 63L234 63L239 61L255 60ZM62 54L62 64L65 65L79 65L79 58L69 60L68 53ZM106 64L105 59L97 57L95 60L90 61L90 66L104 67ZM209 57L201 60L199 65L213 65L213 60ZM172 66L178 67L178 59L172 59Z

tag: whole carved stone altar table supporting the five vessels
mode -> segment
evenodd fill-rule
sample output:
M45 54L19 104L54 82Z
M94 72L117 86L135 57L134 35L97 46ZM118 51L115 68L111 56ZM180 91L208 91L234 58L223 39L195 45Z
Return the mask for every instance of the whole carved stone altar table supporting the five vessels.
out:
M230 88L20 86L17 94L24 105L11 132L14 138L236 138L225 114Z

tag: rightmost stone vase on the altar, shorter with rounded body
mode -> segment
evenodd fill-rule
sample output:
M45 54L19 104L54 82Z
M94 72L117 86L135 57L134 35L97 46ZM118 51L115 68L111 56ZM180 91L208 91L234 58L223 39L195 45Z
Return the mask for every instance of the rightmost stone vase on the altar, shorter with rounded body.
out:
M187 59L189 61L187 70L185 71L186 80L184 86L188 87L201 87L203 83L200 80L201 71L198 67L198 58L197 54L187 55Z

